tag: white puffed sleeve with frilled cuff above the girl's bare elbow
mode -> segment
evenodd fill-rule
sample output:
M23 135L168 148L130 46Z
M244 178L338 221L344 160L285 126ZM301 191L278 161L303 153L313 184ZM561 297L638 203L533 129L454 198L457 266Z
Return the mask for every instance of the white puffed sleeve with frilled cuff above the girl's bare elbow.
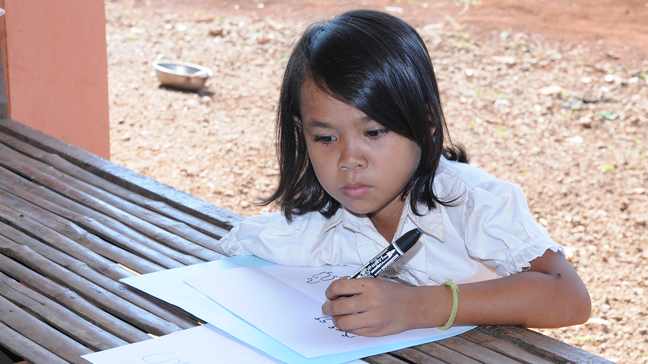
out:
M522 188L498 179L470 188L466 200L468 253L505 277L527 269L548 249L562 251L535 222Z

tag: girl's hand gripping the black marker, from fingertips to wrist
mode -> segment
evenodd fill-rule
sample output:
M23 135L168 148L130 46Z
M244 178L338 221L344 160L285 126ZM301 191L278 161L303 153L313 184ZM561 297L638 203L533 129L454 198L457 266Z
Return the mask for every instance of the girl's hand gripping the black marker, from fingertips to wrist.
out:
M398 334L421 327L417 315L412 314L421 306L415 298L416 288L376 278L335 280L326 290L331 301L323 304L322 312L332 316L340 330L351 334ZM354 296L338 299L341 295Z

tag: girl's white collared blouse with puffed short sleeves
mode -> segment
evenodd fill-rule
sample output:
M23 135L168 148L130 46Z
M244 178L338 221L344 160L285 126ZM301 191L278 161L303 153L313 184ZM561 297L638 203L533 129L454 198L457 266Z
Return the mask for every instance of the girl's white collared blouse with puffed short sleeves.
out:
M424 216L413 214L406 201L394 240L415 227L424 234L385 272L389 277L417 285L446 278L477 282L519 273L548 249L564 254L535 222L515 183L441 157L434 190L442 199L459 199ZM425 210L421 206L419 212ZM329 220L319 212L294 216L291 223L283 212L248 218L220 240L218 250L286 266L361 267L389 244L366 215L341 208Z

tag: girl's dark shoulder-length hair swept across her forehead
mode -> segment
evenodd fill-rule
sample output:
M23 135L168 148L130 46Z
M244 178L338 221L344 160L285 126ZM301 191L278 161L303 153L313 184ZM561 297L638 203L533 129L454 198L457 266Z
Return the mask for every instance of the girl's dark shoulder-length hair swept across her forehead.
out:
M398 17L352 10L308 27L290 55L277 111L279 183L264 205L278 203L288 221L312 211L330 218L340 208L319 183L295 122L301 120L300 89L307 80L419 145L419 166L401 195L404 200L410 193L415 214L417 203L434 209L456 201L442 201L432 190L441 154L464 163L468 156L450 141L425 44Z

